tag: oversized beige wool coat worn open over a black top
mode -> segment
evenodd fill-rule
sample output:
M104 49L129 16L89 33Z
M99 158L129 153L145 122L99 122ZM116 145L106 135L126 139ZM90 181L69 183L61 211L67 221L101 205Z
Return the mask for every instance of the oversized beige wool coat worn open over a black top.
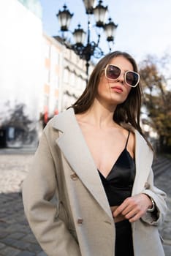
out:
M147 213L132 223L134 256L164 255L157 225L167 211L165 194L153 186L153 154L136 135L132 195L153 197L158 219ZM56 199L57 198L57 199ZM26 217L48 256L115 256L115 225L94 160L72 108L45 128L23 182Z

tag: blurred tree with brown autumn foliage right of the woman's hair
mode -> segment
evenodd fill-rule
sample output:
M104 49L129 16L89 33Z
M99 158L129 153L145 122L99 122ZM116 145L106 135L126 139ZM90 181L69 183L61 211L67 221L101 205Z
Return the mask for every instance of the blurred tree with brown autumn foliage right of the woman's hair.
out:
M154 56L148 56L140 63L143 104L148 110L151 127L159 135L159 149L162 152L169 152L171 148L171 91L167 88L167 78L164 75L164 65L168 61L170 57L167 56L161 61Z

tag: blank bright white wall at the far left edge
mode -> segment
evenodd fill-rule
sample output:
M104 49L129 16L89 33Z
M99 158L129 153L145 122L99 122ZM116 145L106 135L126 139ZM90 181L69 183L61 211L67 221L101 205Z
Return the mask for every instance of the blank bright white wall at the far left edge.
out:
M42 106L42 21L17 0L0 1L0 112L9 100L26 104L31 119ZM1 115L0 124L3 119Z

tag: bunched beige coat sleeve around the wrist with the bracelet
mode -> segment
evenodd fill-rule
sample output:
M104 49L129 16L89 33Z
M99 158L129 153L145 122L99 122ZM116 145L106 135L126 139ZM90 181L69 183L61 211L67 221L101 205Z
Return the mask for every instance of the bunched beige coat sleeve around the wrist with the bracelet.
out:
M146 212L146 214L142 217L144 222L147 222L150 225L161 225L164 221L164 218L167 214L167 203L166 203L166 194L153 185L153 170L148 176L148 184L149 188L142 191L142 193L148 195L153 198L153 201L156 204L156 210L154 212Z

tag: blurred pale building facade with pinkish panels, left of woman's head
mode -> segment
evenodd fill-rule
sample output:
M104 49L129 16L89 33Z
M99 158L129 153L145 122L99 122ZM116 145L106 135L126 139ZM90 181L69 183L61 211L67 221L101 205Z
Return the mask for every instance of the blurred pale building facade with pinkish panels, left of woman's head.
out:
M51 118L72 105L86 88L86 63L47 34L43 34L43 56L42 109Z

